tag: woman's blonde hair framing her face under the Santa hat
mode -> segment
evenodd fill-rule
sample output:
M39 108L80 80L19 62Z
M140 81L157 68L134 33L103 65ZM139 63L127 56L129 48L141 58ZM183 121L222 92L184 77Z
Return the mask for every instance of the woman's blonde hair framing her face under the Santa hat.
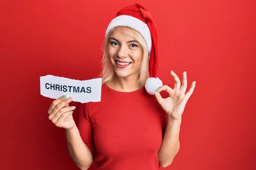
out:
M109 38L111 37L111 34L117 28L122 28L120 29L120 31L133 37L135 40L137 40L140 43L140 45L143 48L143 59L142 59L142 64L139 70L139 80L138 80L138 85L140 86L140 88L142 88L149 77L149 72L148 72L149 57L148 57L146 42L138 31L126 26L118 26L113 28L104 40L103 58L101 60L102 72L100 74L100 77L102 78L102 84L111 81L115 74L115 71L113 69L113 66L111 65L111 61L108 56L108 45L109 45Z

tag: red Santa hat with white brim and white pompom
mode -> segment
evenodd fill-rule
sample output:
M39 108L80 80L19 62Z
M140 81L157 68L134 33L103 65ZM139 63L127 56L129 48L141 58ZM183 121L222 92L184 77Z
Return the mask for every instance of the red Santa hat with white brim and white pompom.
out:
M144 38L149 54L149 78L146 80L145 89L148 94L154 95L154 91L163 85L157 77L158 68L158 37L156 24L146 8L138 3L122 8L109 24L105 37L117 26L127 26L137 30Z

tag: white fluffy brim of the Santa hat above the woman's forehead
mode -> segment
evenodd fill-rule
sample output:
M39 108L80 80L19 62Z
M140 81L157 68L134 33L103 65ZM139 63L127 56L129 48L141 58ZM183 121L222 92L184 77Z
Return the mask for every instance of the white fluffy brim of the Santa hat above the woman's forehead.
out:
M117 26L128 26L130 28L137 30L145 39L147 48L148 48L148 54L150 53L152 40L151 40L150 30L147 24L143 23L143 21L139 20L136 17L132 17L130 15L120 15L118 17L115 17L109 23L105 33L105 37L108 36L108 33L109 31L111 31L111 29Z

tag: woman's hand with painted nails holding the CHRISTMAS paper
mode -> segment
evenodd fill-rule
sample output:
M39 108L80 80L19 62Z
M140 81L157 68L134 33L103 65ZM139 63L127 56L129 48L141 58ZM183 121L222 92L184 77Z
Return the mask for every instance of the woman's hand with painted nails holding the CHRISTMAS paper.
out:
M54 100L49 107L48 114L49 120L52 121L57 127L63 127L64 129L71 129L76 126L73 119L73 110L75 106L69 106L72 101L72 97L61 96Z

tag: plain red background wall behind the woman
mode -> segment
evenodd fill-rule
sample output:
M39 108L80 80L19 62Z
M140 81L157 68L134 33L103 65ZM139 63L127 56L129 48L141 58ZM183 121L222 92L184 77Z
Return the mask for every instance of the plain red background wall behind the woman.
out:
M1 1L1 170L77 169L64 129L48 120L40 76L97 77L108 23L134 2ZM170 70L187 71L188 88L196 80L166 170L256 169L256 1L137 2L158 26L158 77L174 85Z

